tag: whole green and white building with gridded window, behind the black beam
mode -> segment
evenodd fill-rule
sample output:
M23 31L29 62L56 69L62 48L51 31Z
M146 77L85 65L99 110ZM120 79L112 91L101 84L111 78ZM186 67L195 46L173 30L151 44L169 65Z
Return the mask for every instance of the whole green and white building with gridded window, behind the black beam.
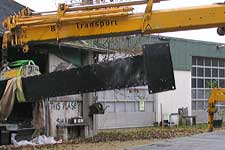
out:
M107 40L107 44L104 39L96 43L99 46L104 43L104 47L110 49L138 53L143 44L169 42L176 90L152 95L148 94L147 87L99 92L98 101L107 109L104 115L96 117L98 129L153 125L162 119L168 120L171 113L178 112L178 108L188 108L188 115L197 116L198 123L207 122L207 100L211 88L225 87L223 44L154 35ZM140 111L143 105L144 109Z

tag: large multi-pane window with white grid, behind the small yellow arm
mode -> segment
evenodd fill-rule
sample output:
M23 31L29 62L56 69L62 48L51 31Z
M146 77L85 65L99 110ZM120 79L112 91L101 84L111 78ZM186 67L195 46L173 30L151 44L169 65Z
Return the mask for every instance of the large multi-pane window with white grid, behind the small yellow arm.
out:
M192 57L192 110L207 108L211 88L225 88L225 59Z

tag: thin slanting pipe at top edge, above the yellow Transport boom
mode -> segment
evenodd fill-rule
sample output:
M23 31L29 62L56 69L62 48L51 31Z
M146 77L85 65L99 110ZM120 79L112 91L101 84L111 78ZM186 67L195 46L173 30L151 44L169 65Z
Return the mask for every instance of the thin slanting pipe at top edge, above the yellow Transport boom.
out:
M88 10L88 9L99 9L99 8L106 8L106 7L119 7L119 6L131 6L131 5L142 5L146 4L146 0L139 0L139 1L131 1L131 2L119 2L119 3L108 3L108 4L95 4L95 5L84 5L84 6L76 6L76 7L69 7L67 11L77 11L77 10Z

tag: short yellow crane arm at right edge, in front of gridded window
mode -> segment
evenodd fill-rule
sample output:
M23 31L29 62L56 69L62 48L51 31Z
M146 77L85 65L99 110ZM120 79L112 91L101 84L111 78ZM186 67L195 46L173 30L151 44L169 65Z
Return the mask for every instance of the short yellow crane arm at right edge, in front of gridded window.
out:
M225 88L214 88L211 90L208 100L208 130L213 131L213 118L217 102L225 102Z

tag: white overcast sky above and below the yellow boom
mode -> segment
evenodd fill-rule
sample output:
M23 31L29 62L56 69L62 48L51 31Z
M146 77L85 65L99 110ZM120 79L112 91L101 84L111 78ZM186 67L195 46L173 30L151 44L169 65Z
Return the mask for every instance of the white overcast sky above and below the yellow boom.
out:
M70 0L15 0L15 1L25 6L28 6L35 11L50 11L50 10L56 10L59 2L69 2ZM157 9L178 8L178 7L187 7L187 6L199 6L199 5L208 5L208 4L219 3L219 2L222 3L224 2L224 0L170 0L168 2L161 2L159 4L154 4L153 9L157 10ZM136 8L136 11L138 12L144 10L144 6L137 6L135 8ZM160 35L225 43L225 37L218 36L215 28L162 33Z

